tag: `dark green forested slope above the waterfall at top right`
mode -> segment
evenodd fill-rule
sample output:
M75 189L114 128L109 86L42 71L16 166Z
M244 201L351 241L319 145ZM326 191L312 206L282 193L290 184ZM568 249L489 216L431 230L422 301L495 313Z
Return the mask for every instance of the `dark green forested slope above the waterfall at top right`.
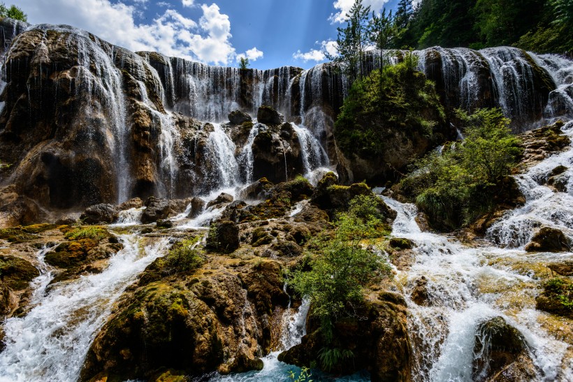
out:
M571 0L401 0L390 47L514 45L535 52L573 51Z

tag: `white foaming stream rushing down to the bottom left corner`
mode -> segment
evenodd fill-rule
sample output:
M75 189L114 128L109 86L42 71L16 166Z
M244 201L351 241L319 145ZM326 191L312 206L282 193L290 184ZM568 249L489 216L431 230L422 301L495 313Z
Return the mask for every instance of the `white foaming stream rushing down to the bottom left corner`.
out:
M9 318L6 349L0 353L0 381L75 381L97 331L113 303L168 244L161 240L140 249L134 235L122 235L124 249L106 270L45 291L45 274L24 318Z

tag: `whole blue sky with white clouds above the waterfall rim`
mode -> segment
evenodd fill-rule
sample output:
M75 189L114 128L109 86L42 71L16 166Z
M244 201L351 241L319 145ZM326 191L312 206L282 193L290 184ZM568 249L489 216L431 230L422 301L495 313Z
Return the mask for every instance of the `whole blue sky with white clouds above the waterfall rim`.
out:
M398 0L363 0L379 12ZM11 3L7 1L7 3ZM32 24L70 24L130 50L205 64L310 68L335 51L354 0L18 0Z

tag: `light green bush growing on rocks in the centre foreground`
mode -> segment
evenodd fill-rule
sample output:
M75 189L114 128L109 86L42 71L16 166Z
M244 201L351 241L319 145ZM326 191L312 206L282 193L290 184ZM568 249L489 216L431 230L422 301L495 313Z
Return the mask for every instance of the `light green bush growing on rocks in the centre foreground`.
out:
M363 286L389 274L384 260L362 245L363 240L377 235L382 223L375 198L359 196L352 200L348 212L338 216L331 235L311 240L311 270L289 274L294 290L310 297L312 314L321 320L327 337L338 318L356 314L354 306L363 299Z

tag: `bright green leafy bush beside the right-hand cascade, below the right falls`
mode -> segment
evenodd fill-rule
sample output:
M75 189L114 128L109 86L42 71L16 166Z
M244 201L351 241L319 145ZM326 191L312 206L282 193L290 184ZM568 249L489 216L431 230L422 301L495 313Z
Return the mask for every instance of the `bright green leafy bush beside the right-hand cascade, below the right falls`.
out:
M405 193L442 229L456 229L493 207L496 186L521 154L519 140L509 131L509 119L499 109L473 115L456 112L467 138L444 152L416 161L402 179Z

